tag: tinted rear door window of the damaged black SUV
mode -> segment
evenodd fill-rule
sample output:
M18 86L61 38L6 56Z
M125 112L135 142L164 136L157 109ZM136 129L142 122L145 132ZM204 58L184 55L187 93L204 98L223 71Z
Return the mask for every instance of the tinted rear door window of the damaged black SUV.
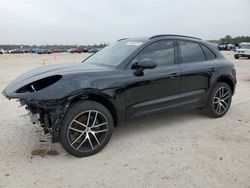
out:
M204 61L205 55L198 43L180 41L180 49L183 63Z

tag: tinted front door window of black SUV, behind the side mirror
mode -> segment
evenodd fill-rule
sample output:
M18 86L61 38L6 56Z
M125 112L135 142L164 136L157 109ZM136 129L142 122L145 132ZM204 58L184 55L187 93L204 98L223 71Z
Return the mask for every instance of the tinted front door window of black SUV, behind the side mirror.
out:
M150 58L160 65L174 64L174 42L170 40L158 41L144 48L137 60Z

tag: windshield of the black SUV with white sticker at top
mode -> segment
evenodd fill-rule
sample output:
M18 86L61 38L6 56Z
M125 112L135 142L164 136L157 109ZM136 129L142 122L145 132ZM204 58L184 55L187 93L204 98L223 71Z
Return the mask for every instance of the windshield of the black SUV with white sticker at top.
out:
M117 67L122 63L132 52L134 52L143 42L123 40L111 44L96 54L92 55L84 63Z

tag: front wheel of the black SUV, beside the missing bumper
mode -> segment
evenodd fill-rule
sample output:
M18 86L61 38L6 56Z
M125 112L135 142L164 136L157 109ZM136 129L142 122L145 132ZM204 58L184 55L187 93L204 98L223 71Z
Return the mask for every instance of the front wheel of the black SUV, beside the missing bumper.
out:
M76 102L63 119L60 143L73 156L90 156L106 146L113 128L113 117L102 104L90 100Z

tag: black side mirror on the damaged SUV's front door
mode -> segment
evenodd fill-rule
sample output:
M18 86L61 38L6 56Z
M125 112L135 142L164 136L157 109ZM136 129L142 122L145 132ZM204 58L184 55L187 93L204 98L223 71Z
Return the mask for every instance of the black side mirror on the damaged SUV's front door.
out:
M135 76L143 76L144 69L154 69L155 67L157 67L157 64L155 61L149 58L144 58L140 60L139 62L134 63L131 68L135 69L134 71Z

